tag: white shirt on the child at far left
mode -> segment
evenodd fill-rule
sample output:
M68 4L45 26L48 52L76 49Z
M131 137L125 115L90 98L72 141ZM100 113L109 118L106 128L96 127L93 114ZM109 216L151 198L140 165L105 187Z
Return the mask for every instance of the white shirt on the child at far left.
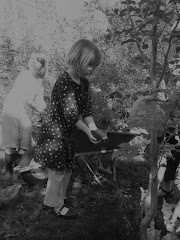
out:
M42 79L33 77L29 70L21 72L5 99L3 112L10 113L17 118L27 114L31 118L32 109L27 102L35 101L41 87Z

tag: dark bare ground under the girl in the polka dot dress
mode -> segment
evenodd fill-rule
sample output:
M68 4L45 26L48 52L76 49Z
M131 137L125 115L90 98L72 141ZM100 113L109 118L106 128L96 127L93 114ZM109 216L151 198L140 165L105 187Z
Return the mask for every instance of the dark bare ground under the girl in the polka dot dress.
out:
M139 186L147 187L148 166L125 162L120 165L117 185L111 176L101 175L103 187L85 166L86 179L75 166L67 194L67 204L79 211L74 220L64 220L43 209L43 186L29 188L23 184L15 205L1 206L0 239L139 240Z

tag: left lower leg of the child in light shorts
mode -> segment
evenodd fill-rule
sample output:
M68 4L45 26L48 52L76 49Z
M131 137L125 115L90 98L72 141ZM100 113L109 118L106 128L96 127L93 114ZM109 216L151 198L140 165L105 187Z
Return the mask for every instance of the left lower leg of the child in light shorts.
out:
M13 176L13 163L16 157L15 148L5 148L5 174L4 180L10 180Z

